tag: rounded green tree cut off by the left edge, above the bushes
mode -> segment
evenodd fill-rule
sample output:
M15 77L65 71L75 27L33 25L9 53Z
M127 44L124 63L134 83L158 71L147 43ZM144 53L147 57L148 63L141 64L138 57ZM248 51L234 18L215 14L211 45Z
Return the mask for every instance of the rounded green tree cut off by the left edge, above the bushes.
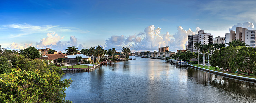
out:
M0 74L8 73L12 69L12 64L8 59L0 56Z

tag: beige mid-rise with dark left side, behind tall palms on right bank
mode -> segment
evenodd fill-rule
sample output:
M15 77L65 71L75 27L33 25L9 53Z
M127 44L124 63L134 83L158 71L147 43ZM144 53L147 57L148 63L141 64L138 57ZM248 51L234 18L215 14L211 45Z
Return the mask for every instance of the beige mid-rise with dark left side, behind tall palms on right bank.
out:
M197 52L197 49L194 48L196 42L201 42L201 45L213 44L213 34L205 33L204 30L199 30L197 34L188 35L187 51Z

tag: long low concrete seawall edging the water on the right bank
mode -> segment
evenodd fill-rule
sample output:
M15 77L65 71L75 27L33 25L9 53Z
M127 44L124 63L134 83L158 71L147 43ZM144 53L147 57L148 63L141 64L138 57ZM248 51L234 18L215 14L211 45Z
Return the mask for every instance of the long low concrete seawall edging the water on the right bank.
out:
M197 66L193 66L193 65L189 65L189 66L193 67L193 68L196 68L196 69L199 69L199 70L210 72L210 73L213 73L213 74L216 74L216 75L220 75L220 76L225 76L225 77L234 78L234 79L238 79L238 80L256 82L255 78L231 75L231 74L228 74L228 73L223 73L223 72L218 72L218 71L214 71L214 70L209 70L209 69L205 69L205 68L201 68L201 67L197 67Z

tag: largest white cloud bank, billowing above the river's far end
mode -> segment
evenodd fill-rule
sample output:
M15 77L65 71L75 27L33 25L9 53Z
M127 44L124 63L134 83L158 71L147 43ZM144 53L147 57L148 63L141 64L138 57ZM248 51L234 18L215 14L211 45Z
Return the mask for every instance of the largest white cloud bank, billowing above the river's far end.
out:
M130 36L111 36L105 42L105 49L116 48L121 50L122 47L129 47L131 52L142 50L157 50L159 47L169 46L170 50L176 51L177 49L185 49L187 45L187 35L195 34L201 30L196 27L195 31L191 29L183 30L181 26L177 27L178 32L174 35L170 35L166 32L163 36L160 36L161 28L155 28L154 25L150 25L144 29L144 32L140 32L137 35Z

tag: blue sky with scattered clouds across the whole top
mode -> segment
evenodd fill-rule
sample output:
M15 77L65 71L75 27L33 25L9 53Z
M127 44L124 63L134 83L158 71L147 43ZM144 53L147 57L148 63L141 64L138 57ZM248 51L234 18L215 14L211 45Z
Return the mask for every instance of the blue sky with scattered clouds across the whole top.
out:
M189 35L187 33L189 29L196 32L199 27L200 30L212 33L214 36L224 37L224 34L229 32L229 28L237 26L237 23L245 23L245 27L252 26L253 24L248 22L254 23L256 20L256 7L252 5L253 2L253 0L1 0L0 44L8 49L35 46L50 47L58 51L64 51L71 45L79 49L102 45L105 49L116 47L118 50L122 46L128 46L138 51L170 46L171 50L175 51L184 49L185 39L182 45L175 45L180 40L178 38ZM154 28L151 25L154 25ZM161 32L154 31L158 27L161 28ZM139 39L139 43L128 41L129 37L130 41L135 41L132 37L136 38L140 33L144 38L148 38L151 34L150 31L145 32L147 28L154 32L151 41L146 41L143 37L136 39ZM163 36L167 37L166 32L169 33L170 39L165 39L163 43ZM182 32L186 33L179 34ZM158 39L158 37L162 38Z

